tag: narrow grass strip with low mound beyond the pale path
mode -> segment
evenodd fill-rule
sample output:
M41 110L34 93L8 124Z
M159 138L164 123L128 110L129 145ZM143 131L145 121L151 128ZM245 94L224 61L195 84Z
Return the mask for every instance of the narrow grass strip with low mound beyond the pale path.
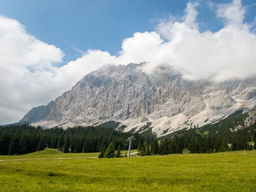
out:
M131 153L137 152L137 149L131 150ZM122 151L122 154L128 151ZM99 153L61 153L57 149L48 148L43 151L24 155L0 155L0 160L12 159L38 159L38 158L78 158L78 157L98 157Z

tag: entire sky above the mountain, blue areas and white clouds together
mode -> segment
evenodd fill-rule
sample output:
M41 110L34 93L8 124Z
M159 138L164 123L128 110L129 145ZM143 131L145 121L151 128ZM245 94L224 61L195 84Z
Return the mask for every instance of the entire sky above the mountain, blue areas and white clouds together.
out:
M253 3L0 0L0 125L106 64L169 64L192 81L256 76Z

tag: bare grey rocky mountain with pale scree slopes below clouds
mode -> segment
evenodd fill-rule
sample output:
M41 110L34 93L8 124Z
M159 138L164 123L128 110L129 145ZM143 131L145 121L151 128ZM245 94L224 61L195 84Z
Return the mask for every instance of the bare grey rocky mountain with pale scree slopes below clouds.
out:
M45 127L111 122L123 131L151 131L160 137L217 122L256 104L256 78L188 81L170 66L145 74L144 64L101 67L47 106L33 108L20 122Z

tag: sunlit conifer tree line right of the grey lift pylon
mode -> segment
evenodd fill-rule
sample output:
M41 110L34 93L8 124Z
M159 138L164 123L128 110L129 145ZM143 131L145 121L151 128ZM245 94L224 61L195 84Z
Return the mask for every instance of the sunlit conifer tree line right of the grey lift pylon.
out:
M254 142L254 146L252 145ZM231 144L229 146L228 144ZM182 153L216 153L224 151L239 151L256 149L256 124L238 131L226 131L218 134L200 134L195 129L178 131L171 139L151 143L140 139L138 141L138 151L140 155L151 154L182 154Z

